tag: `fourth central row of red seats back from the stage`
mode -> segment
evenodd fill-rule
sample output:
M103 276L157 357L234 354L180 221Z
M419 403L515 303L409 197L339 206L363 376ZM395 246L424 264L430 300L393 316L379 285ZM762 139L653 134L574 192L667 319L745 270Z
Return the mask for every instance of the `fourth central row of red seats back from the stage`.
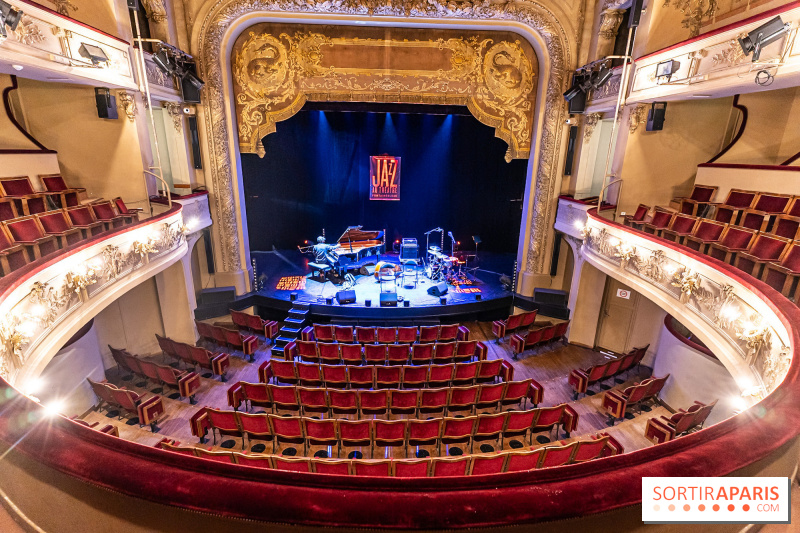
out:
M475 412L476 409L502 409L528 400L536 406L544 398L544 389L532 379L471 387L438 389L343 390L323 387L298 387L240 381L228 389L228 405L238 409L242 402L304 415L345 414L363 416L445 414L452 411Z

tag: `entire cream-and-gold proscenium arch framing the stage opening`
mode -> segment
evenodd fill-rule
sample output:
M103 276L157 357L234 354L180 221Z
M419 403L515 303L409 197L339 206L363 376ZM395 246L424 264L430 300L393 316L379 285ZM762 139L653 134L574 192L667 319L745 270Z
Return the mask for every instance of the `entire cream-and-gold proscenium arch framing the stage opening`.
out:
M437 0L441 2L442 0ZM205 103L201 108L208 150L216 211L217 247L223 269L247 270L249 255L243 195L241 158L236 135L236 113L230 60L233 44L248 27L260 22L317 24L369 24L373 26L429 27L505 30L528 40L539 60L540 74L534 135L525 188L523 228L520 231L520 270L543 272L549 260L545 250L552 240L555 191L559 184L559 147L563 139L565 106L561 92L568 64L574 62L570 39L552 11L536 2L491 4L486 7L450 10L443 3L418 2L406 6L379 6L370 16L366 5L323 3L272 3L265 0L229 0L200 12L193 30L193 52L199 60L200 75L206 81ZM278 11L280 10L280 11ZM407 11L406 11L407 10ZM442 18L431 18L441 16ZM533 194L531 194L533 193Z

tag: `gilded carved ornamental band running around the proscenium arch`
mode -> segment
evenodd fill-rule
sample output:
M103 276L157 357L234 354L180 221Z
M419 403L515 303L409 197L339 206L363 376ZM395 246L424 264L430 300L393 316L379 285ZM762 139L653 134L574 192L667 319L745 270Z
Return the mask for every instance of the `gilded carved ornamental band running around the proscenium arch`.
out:
M226 119L225 93L222 81L222 46L229 31L237 21L253 12L302 12L324 14L350 14L364 16L374 6L357 0L329 2L322 0L228 0L219 2L200 23L197 50L201 77L206 81L205 101L208 151L211 160L211 181L216 196L215 222L221 235L220 255L224 270L240 270L245 267L239 246L236 202L232 168L234 167L229 144L229 128ZM539 133L539 158L536 162L534 198L531 206L528 249L525 254L525 269L541 272L544 268L547 227L552 222L554 187L559 179L557 158L561 142L561 124L565 112L562 92L566 71L573 61L569 49L570 39L564 27L551 11L536 3L452 3L444 0L393 0L380 9L380 15L394 17L450 18L506 20L518 22L536 32L547 50L550 76L545 91L544 121ZM537 128L538 129L538 128Z

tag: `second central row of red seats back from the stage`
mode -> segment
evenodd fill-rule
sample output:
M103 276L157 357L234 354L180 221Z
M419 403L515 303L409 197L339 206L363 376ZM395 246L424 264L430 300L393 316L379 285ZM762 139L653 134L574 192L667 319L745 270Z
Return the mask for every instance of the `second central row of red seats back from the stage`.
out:
M489 351L478 341L449 341L414 344L340 344L335 342L292 341L283 349L287 361L300 358L310 363L346 365L429 365L483 361Z

